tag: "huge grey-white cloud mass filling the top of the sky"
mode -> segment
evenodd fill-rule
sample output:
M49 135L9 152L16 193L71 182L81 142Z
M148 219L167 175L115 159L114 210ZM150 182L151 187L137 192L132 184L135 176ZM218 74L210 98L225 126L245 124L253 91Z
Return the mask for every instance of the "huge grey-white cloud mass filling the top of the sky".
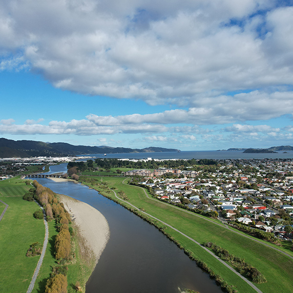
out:
M292 85L293 8L277 4L1 1L0 54L6 57L0 68L29 64L56 87L150 105L192 106L228 91Z

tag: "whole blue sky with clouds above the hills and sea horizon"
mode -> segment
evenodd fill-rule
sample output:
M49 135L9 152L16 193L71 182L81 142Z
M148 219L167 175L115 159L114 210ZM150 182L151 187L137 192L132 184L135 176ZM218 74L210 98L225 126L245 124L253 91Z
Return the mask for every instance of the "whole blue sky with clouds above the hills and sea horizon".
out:
M293 146L293 0L1 0L0 137Z

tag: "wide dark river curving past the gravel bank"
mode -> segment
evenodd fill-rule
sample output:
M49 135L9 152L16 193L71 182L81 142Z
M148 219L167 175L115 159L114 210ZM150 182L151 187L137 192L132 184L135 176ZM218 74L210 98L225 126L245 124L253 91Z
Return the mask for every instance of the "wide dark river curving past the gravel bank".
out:
M62 171L64 166L52 166L50 172ZM86 284L86 293L178 293L178 288L222 292L163 233L96 190L73 182L36 180L56 193L88 203L108 221L109 242Z

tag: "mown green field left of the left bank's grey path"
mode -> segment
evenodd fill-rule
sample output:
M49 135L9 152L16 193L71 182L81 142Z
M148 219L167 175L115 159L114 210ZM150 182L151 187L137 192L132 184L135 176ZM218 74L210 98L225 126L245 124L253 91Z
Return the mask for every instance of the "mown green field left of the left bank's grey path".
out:
M32 243L43 243L45 235L43 221L33 217L39 206L22 199L30 187L19 179L0 182L0 199L9 205L0 222L1 292L26 292L39 260L25 256Z

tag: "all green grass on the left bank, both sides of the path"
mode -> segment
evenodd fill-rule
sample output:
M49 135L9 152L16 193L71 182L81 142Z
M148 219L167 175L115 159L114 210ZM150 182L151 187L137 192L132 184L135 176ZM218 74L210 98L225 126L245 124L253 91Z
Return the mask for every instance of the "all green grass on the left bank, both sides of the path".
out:
M19 177L0 181L0 199L9 205L0 222L0 291L9 293L26 292L33 273L39 261L39 256L26 257L26 251L34 242L43 243L43 220L37 220L33 213L40 209L35 202L22 199L24 193L32 188ZM4 205L0 203L0 213ZM55 259L54 241L57 235L55 221L49 222L49 243L43 259L33 293L44 292L46 280L50 277L51 267L57 265ZM68 293L76 292L73 288L77 281L84 288L85 282L94 269L93 259L81 254L79 250L80 238L73 237L75 258L67 264Z

